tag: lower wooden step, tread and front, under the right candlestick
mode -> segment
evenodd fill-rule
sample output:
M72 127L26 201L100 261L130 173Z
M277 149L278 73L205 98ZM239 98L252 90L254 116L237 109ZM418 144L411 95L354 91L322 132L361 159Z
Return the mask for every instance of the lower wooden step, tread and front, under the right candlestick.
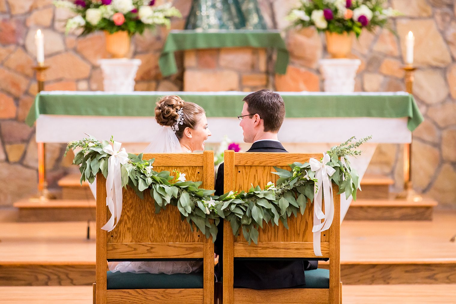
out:
M432 220L437 205L433 199L420 202L405 199L357 199L352 201L344 220Z

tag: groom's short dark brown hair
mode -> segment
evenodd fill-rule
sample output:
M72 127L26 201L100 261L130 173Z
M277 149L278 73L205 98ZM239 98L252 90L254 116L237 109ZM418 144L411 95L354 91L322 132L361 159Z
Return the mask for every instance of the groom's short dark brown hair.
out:
M285 104L282 96L269 89L263 89L244 97L249 114L258 114L264 122L265 132L278 132L285 118Z

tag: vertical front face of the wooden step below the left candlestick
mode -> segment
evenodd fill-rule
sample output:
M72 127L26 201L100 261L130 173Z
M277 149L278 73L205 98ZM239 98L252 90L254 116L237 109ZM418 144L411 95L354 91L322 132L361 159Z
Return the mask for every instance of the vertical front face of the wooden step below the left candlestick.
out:
M19 208L20 222L95 221L95 208Z

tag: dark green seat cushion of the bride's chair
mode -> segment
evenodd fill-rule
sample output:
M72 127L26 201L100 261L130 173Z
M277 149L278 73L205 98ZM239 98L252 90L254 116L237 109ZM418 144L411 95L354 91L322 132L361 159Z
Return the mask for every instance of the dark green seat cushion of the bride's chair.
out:
M108 289L203 288L202 273L107 273Z

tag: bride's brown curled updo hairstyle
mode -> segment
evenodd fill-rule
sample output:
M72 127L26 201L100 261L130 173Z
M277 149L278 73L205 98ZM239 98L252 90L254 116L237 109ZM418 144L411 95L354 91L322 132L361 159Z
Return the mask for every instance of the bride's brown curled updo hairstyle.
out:
M204 109L192 102L184 101L179 96L169 95L163 96L155 106L155 121L161 126L173 126L179 114L177 111L182 109L182 125L179 124L179 130L177 130L176 136L181 139L185 128L189 127L195 129L199 116L204 113Z

